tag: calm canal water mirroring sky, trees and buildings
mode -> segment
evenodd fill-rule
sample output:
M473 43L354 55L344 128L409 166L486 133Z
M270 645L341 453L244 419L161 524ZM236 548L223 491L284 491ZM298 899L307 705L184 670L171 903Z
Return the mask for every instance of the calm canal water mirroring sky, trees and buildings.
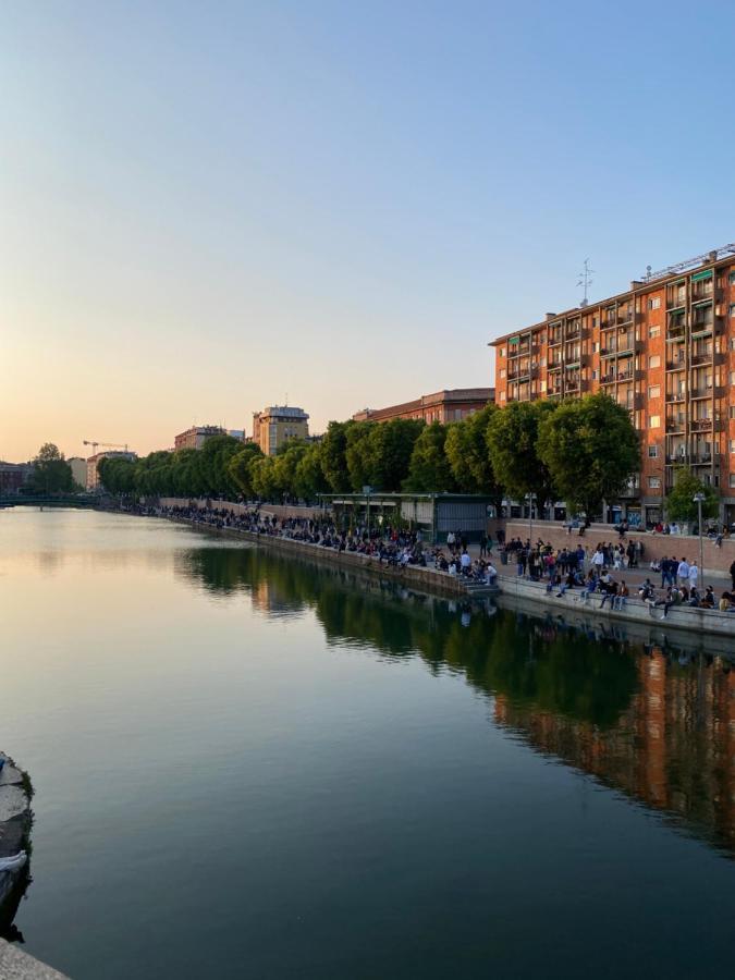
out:
M1 512L0 597L14 926L76 980L732 971L735 671L696 640L91 512Z

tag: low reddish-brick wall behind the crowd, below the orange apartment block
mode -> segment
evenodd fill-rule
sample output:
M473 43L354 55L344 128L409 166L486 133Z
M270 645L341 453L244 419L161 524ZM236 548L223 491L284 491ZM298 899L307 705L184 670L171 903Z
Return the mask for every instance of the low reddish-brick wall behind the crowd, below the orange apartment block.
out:
M512 538L520 538L522 541L528 539L528 520L493 519L489 522L489 529L493 537L497 537L499 528L505 531L505 538L509 541ZM553 548L576 548L581 543L583 547L592 551L602 541L612 541L616 544L618 540L617 530L609 524L592 524L580 538L576 528L573 528L572 534L568 535L559 522L534 520L532 534L535 542L540 538ZM690 562L699 563L699 538L694 535L657 535L651 531L632 531L624 540L626 542L641 541L644 546L641 568L647 567L653 559L660 561L662 558L686 558ZM725 538L720 548L710 538L705 538L702 544L705 573L728 576L730 566L735 561L735 539Z

